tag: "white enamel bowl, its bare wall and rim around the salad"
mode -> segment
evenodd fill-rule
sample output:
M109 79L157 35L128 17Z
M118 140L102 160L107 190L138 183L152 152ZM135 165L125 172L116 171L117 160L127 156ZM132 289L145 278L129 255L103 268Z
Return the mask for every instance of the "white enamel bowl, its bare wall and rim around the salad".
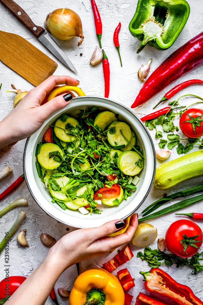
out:
M44 133L62 113L69 113L71 116L77 118L79 109L85 109L87 106L97 106L101 111L110 110L115 114L119 114L118 120L126 122L131 129L135 131L138 144L145 153L144 168L139 174L140 180L138 182L136 192L132 193L131 197L123 200L119 206L104 206L102 205L103 212L101 214L82 215L78 210L64 211L57 203L51 203L52 197L45 184L38 177L36 169L35 151L37 143L39 143ZM24 157L23 157L23 170L27 187L33 196L33 199L38 205L51 217L75 228L93 228L104 224L107 221L114 219L126 219L134 213L138 207L143 203L147 197L154 180L156 169L156 157L152 139L146 130L144 124L138 117L125 106L114 102L110 99L96 97L96 96L81 96L74 98L67 107L55 111L44 122L42 127L27 139Z

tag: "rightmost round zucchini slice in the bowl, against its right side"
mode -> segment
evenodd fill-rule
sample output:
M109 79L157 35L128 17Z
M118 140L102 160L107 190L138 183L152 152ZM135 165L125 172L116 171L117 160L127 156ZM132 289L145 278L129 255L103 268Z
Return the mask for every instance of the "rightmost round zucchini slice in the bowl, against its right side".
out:
M136 165L136 163L139 163L140 166ZM137 152L126 150L118 157L117 165L123 174L135 176L142 170L144 162L142 157Z

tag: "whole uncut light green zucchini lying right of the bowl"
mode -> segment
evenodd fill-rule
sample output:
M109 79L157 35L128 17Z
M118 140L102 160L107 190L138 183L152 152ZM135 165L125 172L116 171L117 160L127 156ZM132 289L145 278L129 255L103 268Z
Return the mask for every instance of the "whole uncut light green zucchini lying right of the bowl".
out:
M163 163L156 168L154 185L161 190L203 176L203 149Z

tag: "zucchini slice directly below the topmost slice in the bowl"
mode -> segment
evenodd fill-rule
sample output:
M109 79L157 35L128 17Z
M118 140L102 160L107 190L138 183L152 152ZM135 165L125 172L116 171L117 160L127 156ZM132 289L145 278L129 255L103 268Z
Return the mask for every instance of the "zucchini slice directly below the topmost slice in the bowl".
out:
M119 145L128 145L128 142L124 139L124 137L121 135L121 131L125 138L130 142L131 140L131 130L130 127L124 123L124 122L113 122L110 124L108 129L115 128L115 133L111 134L110 130L107 131L107 138L109 141L109 144L112 146L119 146ZM121 131L120 131L121 130Z

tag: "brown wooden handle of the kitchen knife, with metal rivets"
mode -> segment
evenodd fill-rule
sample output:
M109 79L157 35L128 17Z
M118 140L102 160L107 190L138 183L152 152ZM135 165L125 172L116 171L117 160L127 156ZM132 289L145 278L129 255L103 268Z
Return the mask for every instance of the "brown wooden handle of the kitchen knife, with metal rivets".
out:
M13 0L0 0L10 11L36 36L39 37L44 31L43 27L37 27L26 12Z

